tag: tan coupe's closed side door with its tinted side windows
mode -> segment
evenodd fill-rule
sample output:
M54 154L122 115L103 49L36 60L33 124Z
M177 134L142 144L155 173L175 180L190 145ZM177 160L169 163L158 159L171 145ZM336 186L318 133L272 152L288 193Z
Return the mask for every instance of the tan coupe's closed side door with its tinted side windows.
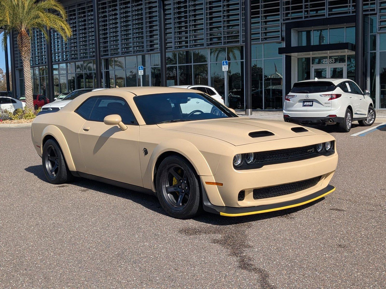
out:
M87 172L142 187L139 125L127 102L120 97L90 97L76 113L86 119L79 141ZM103 119L110 114L119 114L127 129L104 124Z

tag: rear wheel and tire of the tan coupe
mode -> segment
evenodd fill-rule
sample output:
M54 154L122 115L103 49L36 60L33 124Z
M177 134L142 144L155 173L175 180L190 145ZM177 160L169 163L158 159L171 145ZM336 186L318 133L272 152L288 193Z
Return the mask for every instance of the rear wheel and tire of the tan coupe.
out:
M47 181L52 184L63 184L73 180L68 170L63 152L54 139L49 139L43 146L42 165Z

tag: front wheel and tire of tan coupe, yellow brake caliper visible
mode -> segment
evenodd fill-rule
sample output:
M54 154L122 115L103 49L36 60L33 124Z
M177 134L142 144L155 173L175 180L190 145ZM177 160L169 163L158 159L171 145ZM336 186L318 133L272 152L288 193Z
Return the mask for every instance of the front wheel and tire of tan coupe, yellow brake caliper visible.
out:
M171 217L187 219L201 213L199 178L184 158L172 155L161 162L156 175L156 190L159 203Z

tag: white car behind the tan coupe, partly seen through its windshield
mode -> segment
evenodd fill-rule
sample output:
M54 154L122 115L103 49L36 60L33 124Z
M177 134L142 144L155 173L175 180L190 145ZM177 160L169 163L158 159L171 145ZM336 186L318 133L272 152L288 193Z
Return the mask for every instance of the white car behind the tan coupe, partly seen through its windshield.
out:
M220 94L213 87L210 87L210 86L206 86L206 85L179 85L178 86L178 85L175 85L175 86L170 86L170 87L195 89L195 90L198 90L198 91L201 91L201 92L208 94L213 99L220 102L222 105L225 105L223 97L220 96ZM197 104L200 104L200 102L201 102L201 105L197 106ZM213 106L212 104L208 104L207 102L203 102L200 99L191 99L190 101L188 101L188 103L181 104L182 113L186 113L186 111L192 111L193 107L196 110L198 107L200 107L199 110L202 111L203 113L213 113L216 115L219 115L221 113L218 109L215 108L215 106Z

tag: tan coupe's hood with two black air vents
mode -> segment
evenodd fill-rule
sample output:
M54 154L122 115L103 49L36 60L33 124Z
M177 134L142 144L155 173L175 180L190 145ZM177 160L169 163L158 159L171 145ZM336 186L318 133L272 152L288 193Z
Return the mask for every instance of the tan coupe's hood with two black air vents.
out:
M291 128L301 127L300 125L284 123L282 121L269 121L264 119L251 118L222 118L207 119L199 121L185 121L178 123L158 124L160 128L195 133L221 139L235 146L271 141L283 138L296 138L299 136L310 136L317 134L327 134L313 128L305 128L305 132L295 132ZM258 137L249 136L250 133L266 131ZM272 134L270 134L272 133Z

